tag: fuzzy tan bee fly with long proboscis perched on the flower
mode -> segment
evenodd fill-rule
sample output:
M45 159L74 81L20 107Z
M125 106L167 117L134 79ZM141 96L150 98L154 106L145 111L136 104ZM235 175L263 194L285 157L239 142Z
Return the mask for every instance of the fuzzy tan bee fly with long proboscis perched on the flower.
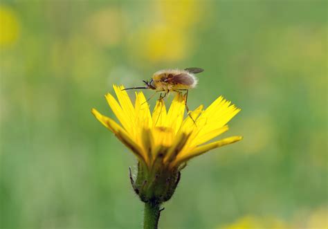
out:
M123 91L130 89L152 89L156 91L155 93L160 92L159 100L165 98L171 91L176 93L183 93L183 91L185 91L185 109L187 110L188 116L192 119L187 106L188 90L193 89L197 85L198 80L194 74L201 73L202 71L204 71L202 68L185 68L184 70L168 69L156 71L151 80L143 80L145 86L130 87L123 89ZM150 100L155 93L148 100Z

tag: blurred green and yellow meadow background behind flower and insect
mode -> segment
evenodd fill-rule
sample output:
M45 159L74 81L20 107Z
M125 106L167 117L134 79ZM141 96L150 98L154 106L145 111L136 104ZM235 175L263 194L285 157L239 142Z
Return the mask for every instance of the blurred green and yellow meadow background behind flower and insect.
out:
M191 66L189 107L224 95L244 140L189 163L161 228L328 227L327 1L2 0L0 32L0 228L140 228L136 158L90 109Z

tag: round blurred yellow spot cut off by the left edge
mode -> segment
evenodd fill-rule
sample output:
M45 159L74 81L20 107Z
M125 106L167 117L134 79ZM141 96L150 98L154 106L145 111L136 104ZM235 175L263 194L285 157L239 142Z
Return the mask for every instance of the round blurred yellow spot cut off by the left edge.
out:
M0 6L0 46L9 46L17 41L19 21L16 13L7 6Z

